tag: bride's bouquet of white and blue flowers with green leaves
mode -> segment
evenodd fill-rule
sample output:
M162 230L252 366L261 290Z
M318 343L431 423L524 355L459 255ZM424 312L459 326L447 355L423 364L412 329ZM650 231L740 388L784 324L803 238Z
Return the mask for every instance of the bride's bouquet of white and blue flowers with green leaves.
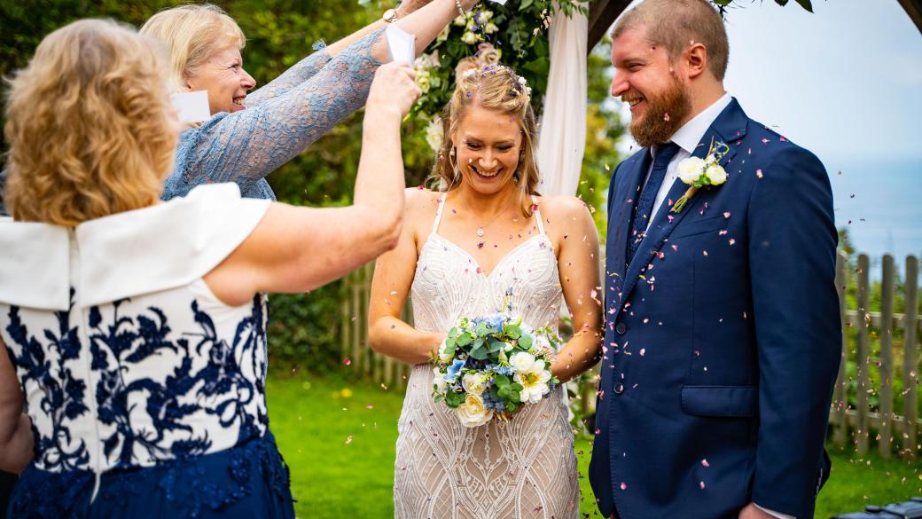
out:
M462 317L433 359L432 391L465 427L489 422L524 404L537 404L560 383L550 356L561 339L549 328L531 330L498 313Z

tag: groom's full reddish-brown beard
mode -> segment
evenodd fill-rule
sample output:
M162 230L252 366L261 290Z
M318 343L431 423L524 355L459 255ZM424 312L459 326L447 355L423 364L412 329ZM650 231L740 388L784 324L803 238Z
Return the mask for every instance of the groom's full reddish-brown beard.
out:
M633 139L644 148L668 142L691 113L691 97L679 81L673 81L658 97L646 97L645 101L644 115L633 118L628 127Z

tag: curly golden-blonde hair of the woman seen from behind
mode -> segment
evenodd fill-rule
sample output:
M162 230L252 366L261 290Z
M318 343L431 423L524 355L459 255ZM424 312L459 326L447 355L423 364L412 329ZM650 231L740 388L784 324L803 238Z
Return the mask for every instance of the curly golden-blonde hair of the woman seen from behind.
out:
M159 42L111 20L53 31L9 79L6 207L68 227L147 207L171 172L176 122Z

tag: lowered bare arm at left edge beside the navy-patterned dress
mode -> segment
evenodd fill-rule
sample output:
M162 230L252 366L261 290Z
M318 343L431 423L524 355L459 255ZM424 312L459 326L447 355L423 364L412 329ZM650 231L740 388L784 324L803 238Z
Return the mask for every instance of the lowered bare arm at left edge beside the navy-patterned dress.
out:
M0 470L19 474L32 459L32 428L22 414L22 390L16 369L0 339Z

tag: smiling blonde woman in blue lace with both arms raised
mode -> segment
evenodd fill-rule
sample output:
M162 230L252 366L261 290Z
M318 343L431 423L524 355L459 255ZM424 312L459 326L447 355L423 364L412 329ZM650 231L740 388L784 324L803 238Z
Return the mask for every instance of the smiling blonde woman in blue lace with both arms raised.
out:
M368 97L374 71L389 60L384 27L416 36L420 53L478 0L405 0L372 25L301 60L252 93L243 69L246 42L237 23L216 6L179 6L151 17L142 34L167 42L171 79L180 91L207 91L211 118L183 131L176 167L163 199L195 186L236 182L245 198L276 199L266 181L323 137Z

